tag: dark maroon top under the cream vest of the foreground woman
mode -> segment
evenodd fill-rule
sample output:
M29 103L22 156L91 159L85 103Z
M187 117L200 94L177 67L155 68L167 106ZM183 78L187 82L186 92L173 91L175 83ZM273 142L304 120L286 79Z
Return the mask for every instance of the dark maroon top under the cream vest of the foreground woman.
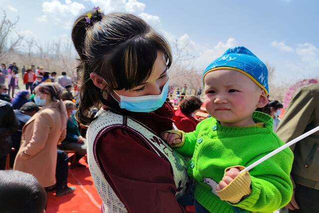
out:
M172 129L173 109L167 103L151 113L121 109L113 99L104 105L138 120L158 135ZM125 126L101 136L96 150L106 180L129 213L185 212L175 199L170 163Z

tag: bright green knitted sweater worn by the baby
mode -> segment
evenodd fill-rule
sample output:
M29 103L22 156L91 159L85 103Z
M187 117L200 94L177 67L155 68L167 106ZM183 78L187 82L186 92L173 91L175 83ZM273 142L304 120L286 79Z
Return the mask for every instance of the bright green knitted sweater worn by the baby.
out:
M233 213L234 207L245 212L273 212L289 203L293 186L290 171L293 153L289 148L259 164L251 171L251 194L237 204L221 201L216 184L231 166L249 166L284 143L273 132L273 119L254 112L255 122L264 127L221 126L213 117L201 121L196 130L185 133L185 143L176 151L192 157L187 172L195 180L194 197L212 213Z

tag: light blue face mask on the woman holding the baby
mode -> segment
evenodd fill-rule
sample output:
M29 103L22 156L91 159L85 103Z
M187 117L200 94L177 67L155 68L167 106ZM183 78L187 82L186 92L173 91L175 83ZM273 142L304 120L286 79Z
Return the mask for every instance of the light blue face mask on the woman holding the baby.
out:
M168 92L168 80L163 86L160 95L151 95L151 96L140 96L140 97L126 97L117 94L115 91L114 93L120 97L120 101L116 101L119 103L121 108L125 108L129 111L135 112L151 112L158 108L160 108L167 97Z

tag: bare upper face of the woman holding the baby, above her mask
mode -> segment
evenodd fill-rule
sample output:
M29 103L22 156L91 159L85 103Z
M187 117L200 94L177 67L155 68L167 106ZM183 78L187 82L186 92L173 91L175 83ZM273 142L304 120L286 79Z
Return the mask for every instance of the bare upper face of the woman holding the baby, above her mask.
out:
M133 88L131 90L116 90L115 92L119 95L126 97L139 97L139 96L148 96L148 95L160 95L164 84L168 80L167 75L167 66L165 62L165 56L162 52L158 51L158 57L154 63L153 72L150 78L142 85ZM118 101L118 97L114 93L114 98Z

